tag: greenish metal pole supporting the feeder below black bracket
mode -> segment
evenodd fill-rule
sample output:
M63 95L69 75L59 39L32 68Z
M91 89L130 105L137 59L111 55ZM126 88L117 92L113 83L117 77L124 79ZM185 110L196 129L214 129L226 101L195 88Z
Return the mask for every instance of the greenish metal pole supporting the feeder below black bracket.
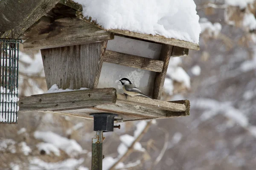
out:
M96 131L96 138L92 139L92 170L102 170L102 141L103 131Z

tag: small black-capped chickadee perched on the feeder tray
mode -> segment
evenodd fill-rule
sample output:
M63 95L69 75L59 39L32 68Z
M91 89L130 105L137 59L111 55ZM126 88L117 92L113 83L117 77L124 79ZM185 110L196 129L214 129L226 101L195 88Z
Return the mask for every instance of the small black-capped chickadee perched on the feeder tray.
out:
M140 89L138 89L137 87L135 87L135 85L133 85L131 83L131 81L127 78L122 78L122 79L119 79L119 81L122 83L123 85L123 91L125 92L125 96L126 96L126 99L127 99L127 95L129 96L137 96L137 95L141 95L141 96L144 96L144 97L148 97L150 99L153 99L151 98L150 96L148 95L145 95L143 94Z

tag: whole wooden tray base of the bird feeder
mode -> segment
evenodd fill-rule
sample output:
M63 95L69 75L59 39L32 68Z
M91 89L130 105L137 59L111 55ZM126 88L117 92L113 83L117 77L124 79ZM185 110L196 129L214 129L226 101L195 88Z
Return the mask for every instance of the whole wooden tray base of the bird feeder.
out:
M90 113L116 113L124 122L144 119L165 119L189 116L189 101L164 102L142 96L116 94L115 88L99 88L39 94L23 97L20 112L44 111L92 119Z

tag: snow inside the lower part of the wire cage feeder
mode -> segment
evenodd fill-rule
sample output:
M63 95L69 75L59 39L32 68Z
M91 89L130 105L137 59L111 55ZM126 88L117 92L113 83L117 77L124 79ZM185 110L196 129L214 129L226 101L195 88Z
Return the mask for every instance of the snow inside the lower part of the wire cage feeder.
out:
M19 101L16 96L17 93L17 88L10 91L9 89L0 86L0 102L4 103L3 105L0 105L0 122L16 122L16 113L19 111L19 106L17 105L17 102Z

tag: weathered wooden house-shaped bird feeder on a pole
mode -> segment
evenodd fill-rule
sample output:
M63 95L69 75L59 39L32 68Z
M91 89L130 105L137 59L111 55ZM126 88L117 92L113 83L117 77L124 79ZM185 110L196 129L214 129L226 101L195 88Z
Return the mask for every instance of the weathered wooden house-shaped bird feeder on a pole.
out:
M47 13L30 14L28 23L21 24L24 29L15 28L14 34L25 40L25 50L41 50L48 89L54 84L62 89L89 89L26 96L19 101L20 112L44 111L85 119L93 119L90 113L115 113L124 122L189 115L188 100L164 102L160 98L170 57L199 50L198 44L104 30L81 16L81 5L72 0L55 2L46 5ZM126 99L118 81L122 77L130 78L154 100Z

